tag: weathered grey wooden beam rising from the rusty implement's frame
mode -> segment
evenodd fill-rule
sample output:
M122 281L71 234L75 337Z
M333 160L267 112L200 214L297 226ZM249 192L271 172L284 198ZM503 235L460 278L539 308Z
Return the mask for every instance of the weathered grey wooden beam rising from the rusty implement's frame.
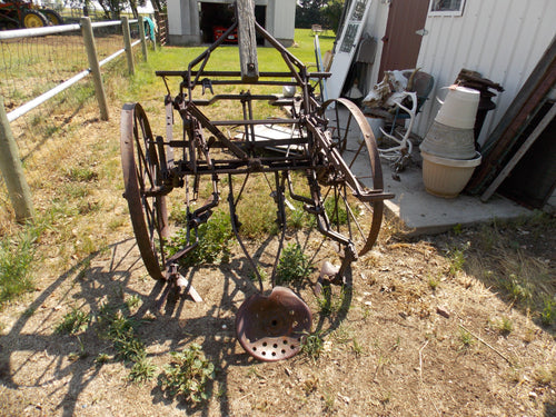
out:
M259 63L257 61L254 0L238 0L237 11L241 80L245 82L255 82L259 79Z

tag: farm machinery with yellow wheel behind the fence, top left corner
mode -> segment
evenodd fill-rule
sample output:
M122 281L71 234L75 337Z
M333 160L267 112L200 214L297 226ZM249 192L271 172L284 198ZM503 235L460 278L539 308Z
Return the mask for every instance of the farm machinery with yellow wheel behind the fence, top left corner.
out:
M62 17L52 9L38 8L30 1L0 1L0 29L42 28L62 23Z

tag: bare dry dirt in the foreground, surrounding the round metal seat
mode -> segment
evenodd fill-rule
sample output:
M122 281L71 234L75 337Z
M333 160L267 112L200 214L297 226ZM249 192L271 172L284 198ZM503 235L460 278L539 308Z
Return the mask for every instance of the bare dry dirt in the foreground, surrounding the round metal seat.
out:
M519 230L534 234L527 226L505 234L518 239ZM539 326L465 268L448 274L445 248L458 240L473 245L483 234L381 241L355 264L353 288L335 290L328 314L319 312L309 287L302 289L325 349L315 360L300 355L276 364L255 361L235 339L235 312L255 290L237 248L229 264L188 276L203 302L180 297L157 310L162 287L146 276L133 240L111 242L2 311L2 414L554 415L554 326ZM536 256L537 241L525 244L527 256ZM554 244L548 237L539 248L552 265L554 252L546 248ZM435 289L431 277L439 279ZM133 295L142 300L137 317L155 311L140 338L157 366L193 341L216 365L208 404L168 400L156 383L128 383L121 363L96 364L99 354L113 351L93 327L79 339L53 334L70 306L98 312L102 301L116 305ZM508 335L496 327L503 317L513 322ZM468 344L465 331L474 335ZM80 349L85 355L76 359Z

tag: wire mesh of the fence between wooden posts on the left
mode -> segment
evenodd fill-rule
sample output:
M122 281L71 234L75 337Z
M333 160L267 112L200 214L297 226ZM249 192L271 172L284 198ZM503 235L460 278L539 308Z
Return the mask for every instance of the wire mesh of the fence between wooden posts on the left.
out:
M122 24L93 24L98 60L107 60L125 48ZM139 39L138 21L130 22L130 36ZM137 60L141 48L133 48ZM102 69L105 85L111 77L128 72L126 56L107 62ZM0 39L0 96L6 112L20 109L30 100L89 68L86 44L79 26L63 33L16 39ZM10 122L19 148L27 182L33 190L44 186L46 161L56 161L57 155L75 151L67 140L68 132L79 123L83 107L96 106L91 77L61 91L37 108ZM56 162L54 162L56 163ZM0 206L10 211L10 200L3 177L0 176Z

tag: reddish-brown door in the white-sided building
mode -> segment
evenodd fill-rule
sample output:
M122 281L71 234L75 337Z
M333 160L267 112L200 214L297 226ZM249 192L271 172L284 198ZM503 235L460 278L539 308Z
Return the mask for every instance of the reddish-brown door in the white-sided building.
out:
M394 0L390 2L378 80L384 71L415 68L419 56L429 0Z

